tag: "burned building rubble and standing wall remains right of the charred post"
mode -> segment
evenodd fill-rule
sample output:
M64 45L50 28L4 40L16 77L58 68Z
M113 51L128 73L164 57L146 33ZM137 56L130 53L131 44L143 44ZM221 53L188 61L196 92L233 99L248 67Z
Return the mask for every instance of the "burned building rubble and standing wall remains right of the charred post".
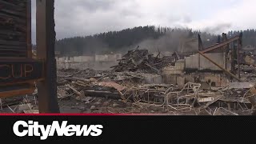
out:
M207 48L199 37L194 51L182 49L162 58L148 50L130 50L112 70L60 69L60 109L113 114L254 114L254 65L242 63L241 36L222 37L222 42Z

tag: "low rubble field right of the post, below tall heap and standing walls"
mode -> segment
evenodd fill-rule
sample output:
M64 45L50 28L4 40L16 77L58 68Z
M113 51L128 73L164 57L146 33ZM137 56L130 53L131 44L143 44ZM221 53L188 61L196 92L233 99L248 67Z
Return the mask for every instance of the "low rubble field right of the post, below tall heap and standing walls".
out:
M253 82L202 88L192 82L185 86L146 84L143 76L58 70L59 106L63 112L110 114L249 115L254 110L247 96Z

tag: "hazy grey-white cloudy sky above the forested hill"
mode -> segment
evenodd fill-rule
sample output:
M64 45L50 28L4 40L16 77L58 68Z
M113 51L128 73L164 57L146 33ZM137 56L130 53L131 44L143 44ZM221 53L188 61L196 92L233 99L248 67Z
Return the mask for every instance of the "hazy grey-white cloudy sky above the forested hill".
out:
M35 1L32 37L35 40ZM57 39L134 26L189 27L221 34L255 29L255 0L55 0Z

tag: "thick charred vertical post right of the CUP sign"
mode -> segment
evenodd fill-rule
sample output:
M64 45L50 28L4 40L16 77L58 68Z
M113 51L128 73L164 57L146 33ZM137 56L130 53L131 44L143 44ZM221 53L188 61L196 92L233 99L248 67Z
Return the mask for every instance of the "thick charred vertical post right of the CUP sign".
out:
M54 0L37 0L37 57L45 61L45 80L38 82L40 113L59 113L57 68L54 55Z

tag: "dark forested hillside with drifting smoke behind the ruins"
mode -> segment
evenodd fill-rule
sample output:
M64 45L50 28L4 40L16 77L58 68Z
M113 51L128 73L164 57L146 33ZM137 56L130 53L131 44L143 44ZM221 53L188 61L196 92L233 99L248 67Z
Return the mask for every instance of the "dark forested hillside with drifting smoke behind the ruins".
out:
M228 37L243 34L243 45L256 45L256 31L230 31ZM107 54L134 49L137 46L149 49L174 51L182 39L198 38L201 35L204 46L218 42L218 35L202 33L191 29L170 27L138 26L121 31L110 31L91 36L64 38L56 42L56 50L62 55ZM144 46L144 47L143 47Z

